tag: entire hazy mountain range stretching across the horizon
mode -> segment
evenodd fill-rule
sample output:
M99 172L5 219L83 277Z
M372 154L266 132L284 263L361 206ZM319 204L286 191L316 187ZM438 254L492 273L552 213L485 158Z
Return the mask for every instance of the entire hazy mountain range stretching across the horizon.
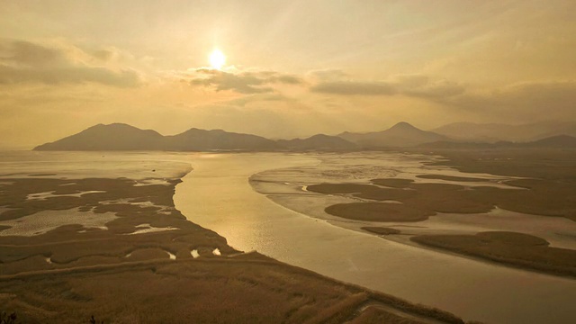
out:
M495 126L498 125L498 126ZM570 122L561 130L571 132ZM576 125L575 125L576 126ZM499 124L455 123L437 131L419 130L408 122L373 132L343 132L338 136L317 134L306 139L266 139L261 136L225 130L190 129L177 135L164 136L155 130L140 130L123 123L98 124L77 134L42 144L35 150L167 150L167 151L305 151L354 150L365 148L576 148L576 137L566 134L513 142L484 136L501 132ZM542 125L526 127L522 134L530 137L545 134ZM576 134L576 127L573 129ZM459 132L460 131L460 132ZM550 131L550 130L546 130ZM517 134L520 133L517 130ZM458 136L455 136L459 135ZM508 133L510 134L510 133ZM510 135L511 136L511 135ZM544 136L544 135L542 135ZM536 136L537 138L537 136ZM466 140L468 139L468 140Z

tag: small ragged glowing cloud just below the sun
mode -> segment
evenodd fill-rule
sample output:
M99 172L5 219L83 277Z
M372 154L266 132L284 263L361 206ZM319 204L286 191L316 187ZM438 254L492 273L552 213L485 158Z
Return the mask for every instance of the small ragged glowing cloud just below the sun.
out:
M201 68L195 70L196 76L190 85L213 86L216 91L231 90L240 94L265 94L274 92L271 85L300 85L298 76L284 75L275 71L226 72Z

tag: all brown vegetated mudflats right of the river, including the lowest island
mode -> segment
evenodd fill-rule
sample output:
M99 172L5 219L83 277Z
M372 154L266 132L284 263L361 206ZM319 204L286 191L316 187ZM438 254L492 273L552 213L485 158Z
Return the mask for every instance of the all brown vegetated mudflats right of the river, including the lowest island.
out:
M347 220L419 222L442 213L462 214L465 218L465 214L477 215L498 208L576 221L576 150L442 150L426 153L447 157L429 163L430 166L451 166L470 176L429 173L416 175L418 182L401 177L378 178L356 184L311 184L307 190L354 198L355 202L333 204L325 209L330 215ZM502 175L507 179L498 181L499 186L475 184L487 180L474 174ZM434 182L427 183L427 180ZM365 226L361 229L394 238L394 233L385 226L382 231L377 228ZM548 247L545 239L526 233L477 231L449 235L435 230L424 232L412 234L410 240L509 266L553 275L576 274L575 250ZM518 244L517 239L525 238L523 236L541 240L542 244Z

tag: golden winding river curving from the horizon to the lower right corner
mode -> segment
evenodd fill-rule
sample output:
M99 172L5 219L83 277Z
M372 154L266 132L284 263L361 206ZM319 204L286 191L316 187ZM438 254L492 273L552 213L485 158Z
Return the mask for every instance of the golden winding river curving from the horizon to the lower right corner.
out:
M248 182L266 170L318 165L316 157L258 153L193 154L184 159L193 172L176 186L176 207L239 250L257 250L321 275L452 311L464 320L576 322L576 280L343 229L284 208ZM410 162L408 157L397 160Z

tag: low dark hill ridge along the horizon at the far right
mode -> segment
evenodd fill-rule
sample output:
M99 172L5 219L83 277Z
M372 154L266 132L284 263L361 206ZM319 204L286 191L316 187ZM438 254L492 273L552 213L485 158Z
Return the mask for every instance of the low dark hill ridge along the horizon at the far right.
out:
M500 140L495 143L437 141L419 145L419 148L446 148L446 149L487 149L487 148L576 148L576 137L558 135L546 139L528 142L510 142Z

